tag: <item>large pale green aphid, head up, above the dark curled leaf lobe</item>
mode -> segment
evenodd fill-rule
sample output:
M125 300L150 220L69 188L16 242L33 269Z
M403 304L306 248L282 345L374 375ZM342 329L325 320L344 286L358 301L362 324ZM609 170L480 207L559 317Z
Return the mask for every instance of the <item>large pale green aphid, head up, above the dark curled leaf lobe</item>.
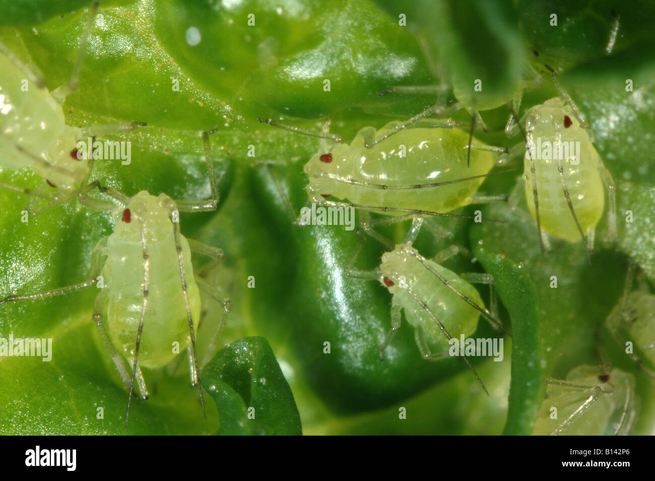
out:
M203 135L206 157L210 159L208 136ZM218 191L211 162L212 201L174 201L165 194L157 197L141 191L131 199L117 191L100 190L119 204L113 209L114 231L100 240L92 253L88 280L37 294L18 294L0 300L0 305L29 299L45 299L90 288L102 279L96 296L93 320L109 354L130 391L125 417L127 424L134 381L143 399L148 393L141 367L164 366L177 354L172 346L187 344L191 366L191 385L199 383L195 333L200 318L200 294L206 291L223 305L221 326L230 310L229 299L193 275L191 252L223 260L223 251L179 231L178 211L197 212L217 204ZM210 345L214 347L220 328ZM131 375L122 358L130 365ZM204 412L202 391L199 392Z

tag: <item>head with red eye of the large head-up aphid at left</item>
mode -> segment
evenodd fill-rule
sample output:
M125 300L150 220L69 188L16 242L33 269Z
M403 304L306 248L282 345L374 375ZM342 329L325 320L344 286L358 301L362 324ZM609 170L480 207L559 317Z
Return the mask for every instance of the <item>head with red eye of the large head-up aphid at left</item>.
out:
M170 215L175 202L166 194L159 197L141 191L128 206L121 206L114 212L114 232L128 242L141 242L141 225L145 240L149 244L172 235Z

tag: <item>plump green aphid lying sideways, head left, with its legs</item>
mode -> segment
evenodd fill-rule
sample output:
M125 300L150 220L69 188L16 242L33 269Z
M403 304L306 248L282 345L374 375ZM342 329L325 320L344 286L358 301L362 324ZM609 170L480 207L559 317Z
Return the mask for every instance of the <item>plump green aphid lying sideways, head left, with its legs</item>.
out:
M406 128L422 117L419 114L404 123L388 123L377 131L373 127L362 128L350 145L339 143L330 149L322 141L321 151L304 168L309 176L306 188L309 201L388 215L468 217L447 212L474 202L504 200L502 196L474 194L485 177L509 172L489 173L495 165L495 152L506 149L476 142L468 169L468 134L453 128L456 124L450 119L439 121L434 128ZM272 119L259 121L341 142L341 136L327 133L329 119L320 133L282 125ZM390 140L394 134L398 135ZM366 144L371 139L375 143L369 149ZM349 202L329 201L326 199L329 196Z

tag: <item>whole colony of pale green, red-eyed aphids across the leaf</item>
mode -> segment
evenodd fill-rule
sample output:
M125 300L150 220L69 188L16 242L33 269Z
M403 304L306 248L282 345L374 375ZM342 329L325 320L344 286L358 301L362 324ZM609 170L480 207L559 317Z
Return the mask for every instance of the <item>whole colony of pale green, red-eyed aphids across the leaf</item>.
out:
M84 50L98 2L90 9L80 49ZM222 260L223 252L180 233L179 211L214 210L219 199L215 183L209 136L202 132L208 180L212 199L208 201L173 200L141 191L127 197L88 181L92 161L81 159L73 148L77 139L94 132L131 130L138 123L77 128L65 125L62 105L55 100L77 85L81 57L73 69L67 87L53 96L43 82L29 72L9 49L0 45L0 109L3 117L0 136L1 168L31 168L43 178L37 189L0 183L29 196L31 212L43 212L64 201L77 198L88 208L111 210L114 229L98 242L92 253L87 280L35 294L12 294L0 298L0 305L65 295L96 286L92 318L103 343L129 391L126 423L136 384L141 398L148 391L141 368L159 368L176 356L172 343L186 344L192 386L200 385L200 367L196 353L196 333L200 321L200 290L207 292L223 308L225 321L230 303L220 290L193 274L191 256L201 254ZM29 94L20 90L20 80L28 78L35 88ZM548 235L567 242L584 243L593 250L595 227L605 211L604 186L608 189L610 240L616 238L614 182L592 144L587 125L569 96L546 100L531 107L523 119L517 119L521 85L512 87L514 108L510 107L508 134L521 132L525 144L512 149L494 147L474 138L480 110L501 106L505 94L491 97L471 96L454 77L453 92L460 103L436 104L405 122L392 122L380 130L362 128L350 142L329 133L329 121L321 132L282 125L272 119L259 119L272 126L322 139L320 152L311 157L304 171L309 202L322 206L352 207L360 210L360 229L381 242L387 252L379 267L360 270L354 263L364 245L360 241L350 262L342 266L349 277L377 280L391 294L390 330L380 346L380 358L393 342L402 325L402 312L413 327L417 349L426 360L449 356L449 347L460 337L471 336L483 316L498 331L510 335L498 317L495 280L488 273L455 273L445 263L457 254L469 254L466 248L451 245L432 258L425 258L413 247L425 217L472 218L454 210L477 202L504 202L504 196L477 195L488 176L511 170L491 172L495 165L508 163L523 155L524 185L517 185L509 202L519 202L525 192L542 247L548 250ZM415 88L416 92L424 92ZM411 87L390 88L388 92L413 93ZM388 93L385 92L385 93ZM54 92L53 92L54 93ZM441 90L438 89L438 93ZM63 100L61 100L63 102ZM465 107L472 114L470 130L458 128L445 119L423 125L428 115L444 115ZM38 121L36 120L38 118ZM516 123L514 124L514 121ZM326 142L331 140L332 142ZM541 145L550 145L550 154L541 155ZM562 154L563 145L575 149ZM498 157L498 154L500 157ZM52 193L51 189L57 189ZM111 199L90 197L92 190ZM337 200L331 200L337 199ZM43 200L47 204L39 204ZM290 206L288 199L286 205ZM292 209L291 209L292 210ZM371 218L371 212L385 217ZM295 216L291 212L291 216ZM411 220L402 242L386 239L375 227ZM480 221L476 219L476 221ZM484 219L483 221L495 221ZM632 271L630 271L632 273ZM472 284L487 284L490 310L485 308ZM631 343L631 358L655 377L654 296L644 290L626 293L608 317L608 328L619 343ZM222 323L221 323L222 326ZM219 330L210 349L215 347ZM436 351L435 351L436 349ZM466 356L462 356L482 389L483 381ZM127 364L126 364L127 361ZM618 368L578 366L567 379L546 379L546 398L536 419L534 434L625 434L635 416L634 379ZM200 401L204 410L202 390ZM553 416L553 413L555 414Z

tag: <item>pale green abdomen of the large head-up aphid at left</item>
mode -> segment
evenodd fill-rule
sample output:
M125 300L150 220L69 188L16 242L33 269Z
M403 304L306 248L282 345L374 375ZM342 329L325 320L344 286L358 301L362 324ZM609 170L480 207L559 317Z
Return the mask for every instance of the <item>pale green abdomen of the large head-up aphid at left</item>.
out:
M196 329L200 318L200 294L193 280L189 244L184 237L180 241L189 305ZM117 349L132 360L143 305L143 250L140 243L126 242L116 235L109 237L107 245L109 256L102 271L108 292L107 328ZM172 233L167 239L148 244L148 256L154 261L149 266L150 286L139 364L154 368L163 366L176 356L173 352L175 341L179 343L179 352L184 349L189 337L189 323Z

